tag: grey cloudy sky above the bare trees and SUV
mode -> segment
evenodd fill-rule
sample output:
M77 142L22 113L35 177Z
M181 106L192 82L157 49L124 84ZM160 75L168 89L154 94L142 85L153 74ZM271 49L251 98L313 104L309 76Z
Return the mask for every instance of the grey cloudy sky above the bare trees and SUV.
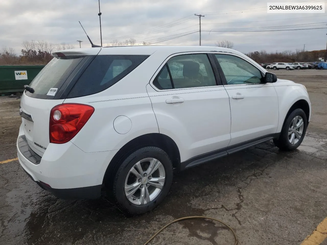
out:
M138 43L198 45L199 18L194 14L201 13L205 15L201 18L202 45L228 40L243 53L303 49L304 44L306 50L326 48L327 29L254 32L327 27L327 13L268 14L267 0L100 0L100 8L103 45L129 38ZM75 47L79 47L76 40L81 40L82 47L89 47L78 21L94 43L100 44L98 11L98 0L1 0L0 48L13 47L19 53L25 40ZM209 32L211 29L219 31Z

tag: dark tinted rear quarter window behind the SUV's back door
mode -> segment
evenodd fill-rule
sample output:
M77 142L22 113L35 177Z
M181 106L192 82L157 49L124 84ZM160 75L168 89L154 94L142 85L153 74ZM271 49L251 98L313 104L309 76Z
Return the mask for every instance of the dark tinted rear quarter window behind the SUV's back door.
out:
M108 89L140 65L144 55L98 55L78 78L67 98L95 94Z

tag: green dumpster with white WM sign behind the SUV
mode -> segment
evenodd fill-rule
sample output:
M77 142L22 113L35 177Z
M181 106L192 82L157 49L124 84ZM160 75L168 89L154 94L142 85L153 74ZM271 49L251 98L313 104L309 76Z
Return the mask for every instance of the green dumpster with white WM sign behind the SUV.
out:
M23 92L43 69L44 65L3 65L0 66L0 94Z

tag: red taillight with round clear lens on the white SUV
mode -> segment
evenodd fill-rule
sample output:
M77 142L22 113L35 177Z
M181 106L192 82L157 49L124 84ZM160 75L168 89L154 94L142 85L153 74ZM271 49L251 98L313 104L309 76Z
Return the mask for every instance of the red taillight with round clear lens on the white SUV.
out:
M53 107L49 123L50 143L63 144L73 139L93 112L92 106L83 104L67 103Z

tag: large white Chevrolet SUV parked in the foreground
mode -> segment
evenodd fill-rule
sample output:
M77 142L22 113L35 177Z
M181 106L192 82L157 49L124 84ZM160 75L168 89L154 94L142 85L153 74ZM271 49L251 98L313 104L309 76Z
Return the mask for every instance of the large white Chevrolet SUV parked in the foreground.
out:
M143 214L179 171L273 139L302 142L305 87L277 79L235 50L205 46L73 49L54 58L21 98L17 153L59 198L98 198Z

